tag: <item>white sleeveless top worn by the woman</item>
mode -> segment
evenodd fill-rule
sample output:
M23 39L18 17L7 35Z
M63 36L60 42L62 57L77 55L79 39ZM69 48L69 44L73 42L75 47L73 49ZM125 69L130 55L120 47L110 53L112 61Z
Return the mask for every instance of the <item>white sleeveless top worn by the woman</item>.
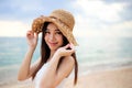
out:
M48 63L44 64L42 68L37 72L35 78L34 78L34 86L35 88L40 88L40 82L42 79L43 74L45 73L45 69L48 67ZM65 78L56 88L63 88L64 84L66 82Z

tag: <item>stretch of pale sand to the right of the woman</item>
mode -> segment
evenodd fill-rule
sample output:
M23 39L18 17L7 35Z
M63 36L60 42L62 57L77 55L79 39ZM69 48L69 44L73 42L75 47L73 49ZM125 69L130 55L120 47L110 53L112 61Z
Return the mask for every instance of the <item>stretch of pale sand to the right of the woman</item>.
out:
M80 76L76 87L69 84L66 88L132 88L132 67L94 72Z

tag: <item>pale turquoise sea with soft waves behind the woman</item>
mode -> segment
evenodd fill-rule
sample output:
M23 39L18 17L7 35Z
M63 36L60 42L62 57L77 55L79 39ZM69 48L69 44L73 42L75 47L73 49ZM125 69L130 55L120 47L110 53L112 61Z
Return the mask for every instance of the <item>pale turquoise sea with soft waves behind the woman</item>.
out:
M77 37L76 54L80 72L132 64L132 37ZM16 81L28 50L25 37L0 37L0 86ZM33 61L40 57L40 41Z

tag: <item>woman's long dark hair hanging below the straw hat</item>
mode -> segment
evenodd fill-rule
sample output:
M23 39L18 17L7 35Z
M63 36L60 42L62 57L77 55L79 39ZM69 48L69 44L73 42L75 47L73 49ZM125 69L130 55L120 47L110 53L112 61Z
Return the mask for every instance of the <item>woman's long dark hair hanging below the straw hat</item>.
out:
M40 65L37 66L36 70L33 73L33 79L36 75L36 73L38 72L38 69L47 62L47 59L50 58L50 54L51 54L51 51L50 51L50 47L47 46L47 44L45 43L44 41L44 36L45 36L45 31L46 31L46 28L47 25L50 24L50 22L45 22L44 25L43 25L43 29L42 29L42 44L41 44L41 63ZM69 42L68 40L63 35L63 46L67 45ZM73 53L72 56L74 57L75 59L75 79L74 79L74 85L77 84L77 76L78 76L78 63L77 63L77 59L76 59L76 53ZM57 66L57 69L59 67L59 65L62 64L62 61L63 61L64 57L62 57L58 62L58 66ZM57 70L56 69L56 70Z

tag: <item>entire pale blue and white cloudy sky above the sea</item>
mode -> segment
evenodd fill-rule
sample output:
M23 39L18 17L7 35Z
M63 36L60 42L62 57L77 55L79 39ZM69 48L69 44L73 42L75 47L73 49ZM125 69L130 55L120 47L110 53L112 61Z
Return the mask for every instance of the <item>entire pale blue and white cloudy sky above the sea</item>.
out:
M0 0L0 36L25 36L55 9L74 14L76 37L132 37L132 0Z

